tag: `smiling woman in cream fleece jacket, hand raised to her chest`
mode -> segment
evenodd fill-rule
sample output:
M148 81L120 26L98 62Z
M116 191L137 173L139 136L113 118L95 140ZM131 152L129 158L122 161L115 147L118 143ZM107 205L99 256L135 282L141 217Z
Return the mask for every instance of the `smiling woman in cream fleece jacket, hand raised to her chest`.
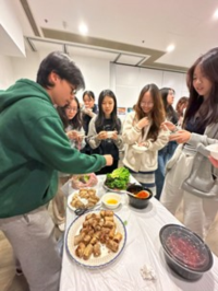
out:
M156 194L155 171L157 153L168 142L168 137L160 129L165 120L165 110L155 84L144 86L140 93L135 112L130 113L123 125L123 142L125 153L123 164L131 174L144 186ZM144 146L144 152L137 153L134 144Z

